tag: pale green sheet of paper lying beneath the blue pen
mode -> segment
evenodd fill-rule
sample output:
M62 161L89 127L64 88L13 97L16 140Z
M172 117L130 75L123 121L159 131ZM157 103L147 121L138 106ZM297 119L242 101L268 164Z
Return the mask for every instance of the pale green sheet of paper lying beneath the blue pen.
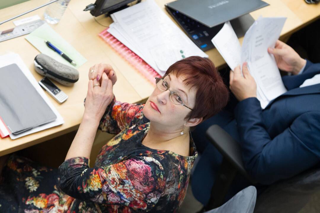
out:
M85 59L75 48L66 42L47 23L44 23L42 26L38 27L35 31L26 36L26 39L41 53L46 54L65 65L78 68L87 61L87 59ZM76 66L71 65L57 52L50 49L44 40L51 42L55 47L60 49L64 54L76 62Z

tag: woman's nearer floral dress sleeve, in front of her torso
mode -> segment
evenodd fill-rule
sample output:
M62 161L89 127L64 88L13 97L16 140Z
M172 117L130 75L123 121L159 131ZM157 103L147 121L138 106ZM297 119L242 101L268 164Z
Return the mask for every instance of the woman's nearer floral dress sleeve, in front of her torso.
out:
M164 169L152 157L137 157L107 167L89 168L88 158L75 157L59 167L66 194L96 203L150 210L165 186Z

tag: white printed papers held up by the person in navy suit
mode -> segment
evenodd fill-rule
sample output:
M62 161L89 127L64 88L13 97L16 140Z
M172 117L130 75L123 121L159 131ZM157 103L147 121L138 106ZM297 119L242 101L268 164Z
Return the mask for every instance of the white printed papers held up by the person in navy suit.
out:
M257 98L263 109L271 100L287 91L276 60L268 53L268 47L275 47L285 19L260 17L244 35L242 47L230 22L226 22L212 38L212 43L232 70L244 62L248 63L250 74L257 83Z

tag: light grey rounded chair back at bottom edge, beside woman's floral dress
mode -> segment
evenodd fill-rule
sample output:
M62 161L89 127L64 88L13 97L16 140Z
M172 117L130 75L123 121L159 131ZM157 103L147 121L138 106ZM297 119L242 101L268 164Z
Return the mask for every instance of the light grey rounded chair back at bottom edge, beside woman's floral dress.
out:
M252 213L256 204L256 198L256 187L248 186L238 192L222 206L207 211L206 213Z

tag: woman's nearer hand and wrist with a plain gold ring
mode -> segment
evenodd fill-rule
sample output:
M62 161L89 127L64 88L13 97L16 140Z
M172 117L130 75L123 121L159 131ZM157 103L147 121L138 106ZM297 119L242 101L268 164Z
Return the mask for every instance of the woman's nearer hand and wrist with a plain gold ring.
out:
M112 81L105 72L102 72L101 86L97 79L89 80L83 119L100 122L107 106L113 100L112 87Z

